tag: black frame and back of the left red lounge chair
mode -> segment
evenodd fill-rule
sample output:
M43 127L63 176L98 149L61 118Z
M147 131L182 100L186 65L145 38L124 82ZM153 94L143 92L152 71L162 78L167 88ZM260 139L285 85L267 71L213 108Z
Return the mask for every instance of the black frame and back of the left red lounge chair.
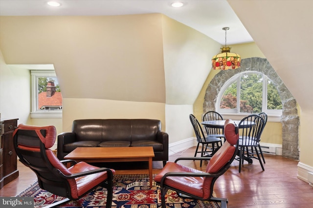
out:
M71 175L65 175L59 169L52 166L52 164L49 162L48 157L45 153L46 148L45 148L44 143L39 142L40 152L29 151L29 150L24 150L24 149L19 148L18 147L19 131L24 131L23 136L25 136L25 134L26 134L26 136L28 135L28 136L33 137L33 138L37 137L37 134L36 134L35 130L18 129L17 133L14 135L14 139L13 139L14 148L15 148L15 151L16 151L20 161L22 162L22 164L25 166L28 166L30 169L32 169L36 173L37 178L38 178L39 187L41 187L42 189L45 189L45 190L47 190L47 191L49 191L55 195L66 197L66 199L63 199L59 202L55 202L51 205L46 206L45 208L57 207L57 206L60 206L62 204L67 203L68 201L78 200L79 198L81 198L82 196L86 195L91 190L93 190L99 186L107 188L108 194L107 194L106 207L111 208L111 206L112 206L112 193L113 193L113 173L112 173L112 170L110 168L101 167L101 168L94 169L94 170L88 170L88 171L75 173L75 174L71 174ZM45 130L41 130L41 133L45 137L45 134L46 134ZM39 140L39 138L38 138L38 140ZM27 159L25 159L24 156L27 156ZM32 162L37 160L37 162L40 162L41 164L34 165L31 162L29 162L30 160ZM73 165L77 164L77 162L74 160L62 160L60 162L63 163L65 166L68 166L68 165L73 166ZM94 173L104 172L104 171L107 171L107 174L108 174L107 180L103 181L102 183L98 184L95 187L92 187L91 189L89 189L84 194L81 194L79 198L72 198L71 191L70 191L71 187L67 181L68 179L74 179L74 178L78 178L78 177L82 177L82 176L86 176L86 175L90 175L90 174L94 174ZM48 186L51 186L51 188L47 188Z

